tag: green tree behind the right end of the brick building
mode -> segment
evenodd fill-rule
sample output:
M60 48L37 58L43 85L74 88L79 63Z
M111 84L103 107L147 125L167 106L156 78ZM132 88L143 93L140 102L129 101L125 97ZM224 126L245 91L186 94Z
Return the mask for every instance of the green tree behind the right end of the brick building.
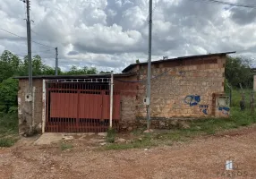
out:
M227 57L225 76L228 83L234 87L239 87L242 83L243 87L252 87L252 61L242 57Z

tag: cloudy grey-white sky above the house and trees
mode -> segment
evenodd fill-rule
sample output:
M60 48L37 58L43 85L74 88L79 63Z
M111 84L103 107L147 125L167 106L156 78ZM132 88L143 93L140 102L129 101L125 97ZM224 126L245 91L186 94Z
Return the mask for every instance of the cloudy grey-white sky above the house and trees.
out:
M255 0L225 0L256 4ZM149 0L31 0L33 55L63 70L72 65L121 72L147 60ZM0 1L0 29L26 37L25 4ZM256 8L204 0L153 0L152 60L236 51L256 55ZM26 55L27 42L0 30L0 53Z

